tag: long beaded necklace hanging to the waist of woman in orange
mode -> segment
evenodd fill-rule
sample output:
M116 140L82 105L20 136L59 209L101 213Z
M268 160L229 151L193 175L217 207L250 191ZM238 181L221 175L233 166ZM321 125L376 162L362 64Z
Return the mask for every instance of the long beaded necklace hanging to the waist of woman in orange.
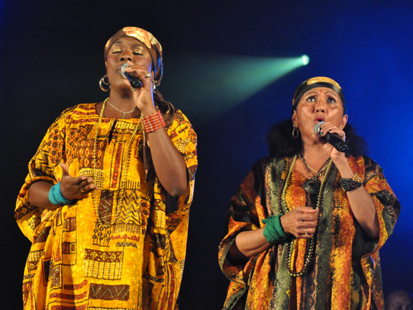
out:
M279 206L281 208L281 211L283 214L286 214L289 210L288 210L288 206L286 203L286 191L288 188L288 185L290 183L290 179L291 179L291 174L293 174L293 167L295 164L295 161L297 160L297 155L294 156L293 161L291 161L291 165L289 167L288 170L288 174L286 177L286 180L284 181L284 186L282 187L282 192L279 195ZM326 172L324 173L323 179L321 180L321 186L319 188L319 193L318 193L318 197L317 197L317 207L319 207L321 205L321 200L323 199L323 191L324 191L324 186L326 185L326 180L328 178L328 175L330 174L330 170L332 167L332 161L331 158L328 160L328 164L327 164L327 169ZM317 227L316 227L316 232L317 232ZM313 257L313 253L314 251L314 246L315 246L315 234L313 235L313 237L310 238L310 245L308 247L308 251L306 251L306 258L304 260L304 265L301 269L301 271L296 271L294 272L293 267L291 266L291 260L292 260L292 256L293 253L295 251L295 242L296 242L297 238L293 238L293 240L290 241L290 243L288 243L286 245L287 247L287 253L288 253L288 257L287 257L287 270L288 273L290 274L290 276L292 277L299 277L302 276L305 272L306 269L308 267L308 263L310 262L310 259Z

